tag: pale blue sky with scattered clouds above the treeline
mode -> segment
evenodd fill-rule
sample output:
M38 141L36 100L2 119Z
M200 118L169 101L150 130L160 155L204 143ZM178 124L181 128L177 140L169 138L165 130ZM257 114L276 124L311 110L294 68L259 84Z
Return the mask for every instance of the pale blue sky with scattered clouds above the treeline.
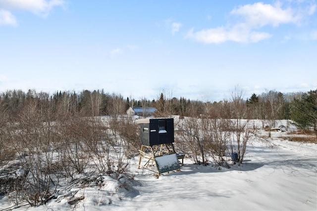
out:
M0 0L0 91L317 88L316 0Z

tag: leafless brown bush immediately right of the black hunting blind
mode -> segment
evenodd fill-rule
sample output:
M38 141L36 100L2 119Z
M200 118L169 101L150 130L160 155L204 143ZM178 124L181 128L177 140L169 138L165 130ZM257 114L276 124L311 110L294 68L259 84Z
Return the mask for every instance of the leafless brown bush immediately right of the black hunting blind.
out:
M226 119L184 118L178 124L177 144L196 164L208 165L209 155L213 162L223 166L231 135L230 123Z

